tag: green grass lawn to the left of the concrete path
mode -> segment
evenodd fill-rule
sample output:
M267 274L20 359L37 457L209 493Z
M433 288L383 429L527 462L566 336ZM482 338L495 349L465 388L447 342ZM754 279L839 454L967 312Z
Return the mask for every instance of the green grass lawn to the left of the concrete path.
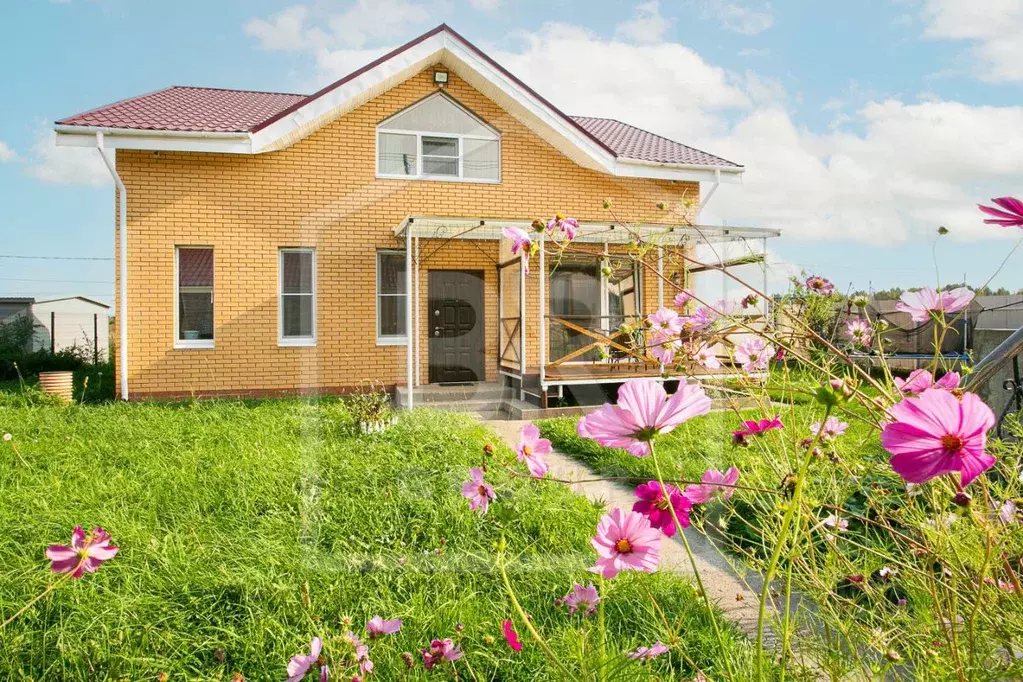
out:
M416 411L356 437L337 402L61 408L0 396L0 431L29 464L0 442L0 616L54 580L43 552L75 525L102 526L121 547L0 631L0 679L279 680L312 636L337 651L347 619L359 632L377 613L404 621L370 644L379 679L426 677L417 651L432 637L459 639L480 680L549 679L521 622L524 651L500 637L513 617L494 570L502 536L519 597L559 657L595 666L595 621L581 634L553 599L594 579L585 569L597 507L509 476L514 455L500 447L490 473L498 500L486 517L470 512L460 484L493 436L469 417ZM607 583L609 655L670 640L649 595L681 636L652 664L616 660L617 679L691 679L686 661L717 677L710 617L670 576ZM750 645L725 632L742 670ZM402 651L413 652L413 671Z

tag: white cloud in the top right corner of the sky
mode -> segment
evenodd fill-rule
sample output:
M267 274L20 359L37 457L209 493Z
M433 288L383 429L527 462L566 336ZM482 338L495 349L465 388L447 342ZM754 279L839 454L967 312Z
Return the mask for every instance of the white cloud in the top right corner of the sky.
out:
M970 43L975 74L994 83L1023 81L1023 3L925 0L924 37Z

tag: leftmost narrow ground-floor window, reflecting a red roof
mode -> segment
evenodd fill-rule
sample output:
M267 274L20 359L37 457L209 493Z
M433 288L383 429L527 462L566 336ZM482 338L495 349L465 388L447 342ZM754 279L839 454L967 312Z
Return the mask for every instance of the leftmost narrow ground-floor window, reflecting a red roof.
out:
M213 248L178 246L175 251L174 346L213 348Z

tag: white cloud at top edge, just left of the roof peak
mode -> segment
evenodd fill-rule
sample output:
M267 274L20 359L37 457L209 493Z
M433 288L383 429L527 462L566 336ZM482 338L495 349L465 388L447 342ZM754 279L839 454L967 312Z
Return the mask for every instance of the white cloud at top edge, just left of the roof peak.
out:
M407 0L356 0L340 12L321 12L307 5L294 5L270 20L251 18L247 35L265 50L322 50L363 48L370 43L403 36L431 20L438 10ZM325 28L313 26L322 24Z

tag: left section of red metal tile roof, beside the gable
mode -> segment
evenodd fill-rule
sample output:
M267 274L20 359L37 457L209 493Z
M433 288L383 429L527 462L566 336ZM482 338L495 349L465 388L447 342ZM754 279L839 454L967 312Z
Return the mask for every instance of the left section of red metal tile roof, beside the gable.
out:
M61 126L244 133L305 95L173 86L57 121Z

